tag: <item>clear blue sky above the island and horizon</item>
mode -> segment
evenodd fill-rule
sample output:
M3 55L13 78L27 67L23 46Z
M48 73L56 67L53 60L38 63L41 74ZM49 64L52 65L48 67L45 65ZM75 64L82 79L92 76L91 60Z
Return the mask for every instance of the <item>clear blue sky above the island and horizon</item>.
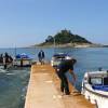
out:
M108 0L0 0L0 48L38 44L65 28L108 44Z

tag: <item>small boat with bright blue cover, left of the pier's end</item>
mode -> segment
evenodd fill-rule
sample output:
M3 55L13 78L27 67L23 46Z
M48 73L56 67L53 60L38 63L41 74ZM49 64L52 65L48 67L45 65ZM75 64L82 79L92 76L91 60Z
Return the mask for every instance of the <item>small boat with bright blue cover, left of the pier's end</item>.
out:
M30 67L32 64L32 58L30 58L25 53L17 54L14 58L13 64L14 66L17 66L17 67Z

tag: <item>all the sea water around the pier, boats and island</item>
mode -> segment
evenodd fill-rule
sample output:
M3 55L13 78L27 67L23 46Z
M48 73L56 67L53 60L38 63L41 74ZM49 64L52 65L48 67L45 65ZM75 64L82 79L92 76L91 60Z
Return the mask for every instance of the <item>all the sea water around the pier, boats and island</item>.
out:
M38 52L43 50L45 60L50 62L55 53L67 53L77 59L75 73L77 76L76 87L81 91L81 82L86 71L95 71L98 68L108 70L108 48L15 48L0 49L0 54L8 52L11 56L26 53L38 60ZM24 108L30 68L0 69L0 108ZM67 73L69 81L72 78Z

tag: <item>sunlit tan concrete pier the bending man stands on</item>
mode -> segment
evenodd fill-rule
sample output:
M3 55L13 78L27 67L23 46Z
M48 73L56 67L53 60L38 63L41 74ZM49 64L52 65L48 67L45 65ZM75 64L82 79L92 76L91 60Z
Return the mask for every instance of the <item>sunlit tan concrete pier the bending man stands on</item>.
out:
M73 86L70 85L70 90ZM95 108L80 93L62 96L59 79L50 65L31 67L25 108Z

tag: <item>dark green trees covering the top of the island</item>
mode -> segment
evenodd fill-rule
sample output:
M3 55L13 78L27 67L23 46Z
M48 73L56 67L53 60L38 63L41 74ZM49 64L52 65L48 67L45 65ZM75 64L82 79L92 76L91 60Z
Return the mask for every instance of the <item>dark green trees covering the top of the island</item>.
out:
M91 44L91 42L87 41L85 38L79 35L73 35L71 33L70 30L67 30L67 29L60 30L55 36L48 36L43 44L53 44L54 39L56 41L56 44L66 44L66 43L89 43Z

